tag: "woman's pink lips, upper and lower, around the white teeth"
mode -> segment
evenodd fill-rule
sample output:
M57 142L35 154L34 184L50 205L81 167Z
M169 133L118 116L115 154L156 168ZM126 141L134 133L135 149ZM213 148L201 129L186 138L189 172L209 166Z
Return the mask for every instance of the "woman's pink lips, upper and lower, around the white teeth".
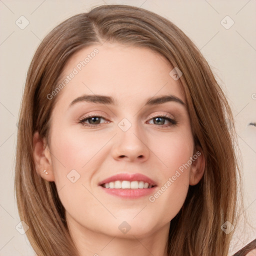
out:
M128 180L128 181L134 181L134 180L138 180L138 181L143 181L143 182L147 182L148 184L153 185L153 187L151 188L135 188L135 189L131 189L131 188L126 188L126 189L122 189L122 188L105 188L103 186L101 186L104 183L109 183L111 181L116 181L116 180ZM156 182L153 181L152 179L150 179L149 177L140 174L140 173L134 173L134 174L129 174L129 173L120 173L120 174L116 174L113 175L109 178L106 178L102 181L100 181L98 183L98 185L101 187L101 189L103 189L103 191L118 196L118 197L124 197L124 198L129 198L129 199L135 199L141 196L145 196L145 195L149 195L151 194L155 188L156 188Z

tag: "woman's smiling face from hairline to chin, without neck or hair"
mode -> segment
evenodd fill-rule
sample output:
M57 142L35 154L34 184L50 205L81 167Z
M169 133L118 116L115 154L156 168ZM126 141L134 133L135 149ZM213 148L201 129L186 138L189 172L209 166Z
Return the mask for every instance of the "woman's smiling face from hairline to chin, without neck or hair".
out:
M57 101L43 174L55 181L69 225L125 237L168 229L203 157L172 69L148 48L109 42L69 59L65 85L48 95ZM170 97L155 100L162 96Z

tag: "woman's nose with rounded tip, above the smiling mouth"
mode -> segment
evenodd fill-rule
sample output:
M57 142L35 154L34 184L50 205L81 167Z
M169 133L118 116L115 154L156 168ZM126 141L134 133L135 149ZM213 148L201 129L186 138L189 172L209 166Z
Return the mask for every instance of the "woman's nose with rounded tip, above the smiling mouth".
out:
M112 157L115 160L126 161L146 161L149 157L150 149L145 132L132 123L130 128L123 131L117 126L117 134L114 136L112 146Z

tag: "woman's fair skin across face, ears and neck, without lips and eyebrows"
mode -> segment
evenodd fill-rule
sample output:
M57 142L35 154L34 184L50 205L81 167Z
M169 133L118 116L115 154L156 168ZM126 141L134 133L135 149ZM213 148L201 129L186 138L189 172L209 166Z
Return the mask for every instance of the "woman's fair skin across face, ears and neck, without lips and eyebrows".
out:
M169 75L173 67L167 59L148 48L95 44L76 52L63 76L95 47L99 52L57 95L48 144L34 134L36 170L56 183L80 255L166 255L169 222L182 207L188 185L202 177L203 154L153 202L148 195L137 199L110 195L97 184L123 172L147 175L156 181L155 191L166 183L196 152L188 112L174 101L151 106L145 102L172 94L186 103L185 97L179 81ZM112 96L117 105L78 102L69 107L83 94ZM79 123L90 113L103 116L94 120L100 122L96 128ZM164 114L177 124L167 126L167 119L157 123L153 118ZM118 126L123 118L131 124L127 131ZM96 126L91 119L85 123ZM67 178L72 169L80 175L74 183ZM131 227L125 234L118 228L123 221Z

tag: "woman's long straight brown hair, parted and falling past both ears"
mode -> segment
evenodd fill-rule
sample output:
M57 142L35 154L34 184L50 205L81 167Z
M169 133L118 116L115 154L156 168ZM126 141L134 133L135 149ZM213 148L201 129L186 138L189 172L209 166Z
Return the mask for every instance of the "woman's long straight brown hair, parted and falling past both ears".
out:
M26 235L38 256L77 256L54 182L41 178L33 161L33 134L48 139L50 117L67 60L86 46L105 41L148 47L182 71L195 147L205 156L204 175L189 186L185 202L170 221L167 253L172 256L227 255L236 226L240 171L235 156L233 117L211 69L194 43L172 22L142 8L102 5L74 15L52 29L38 46L28 69L17 134L15 190ZM242 202L242 201L241 201Z

